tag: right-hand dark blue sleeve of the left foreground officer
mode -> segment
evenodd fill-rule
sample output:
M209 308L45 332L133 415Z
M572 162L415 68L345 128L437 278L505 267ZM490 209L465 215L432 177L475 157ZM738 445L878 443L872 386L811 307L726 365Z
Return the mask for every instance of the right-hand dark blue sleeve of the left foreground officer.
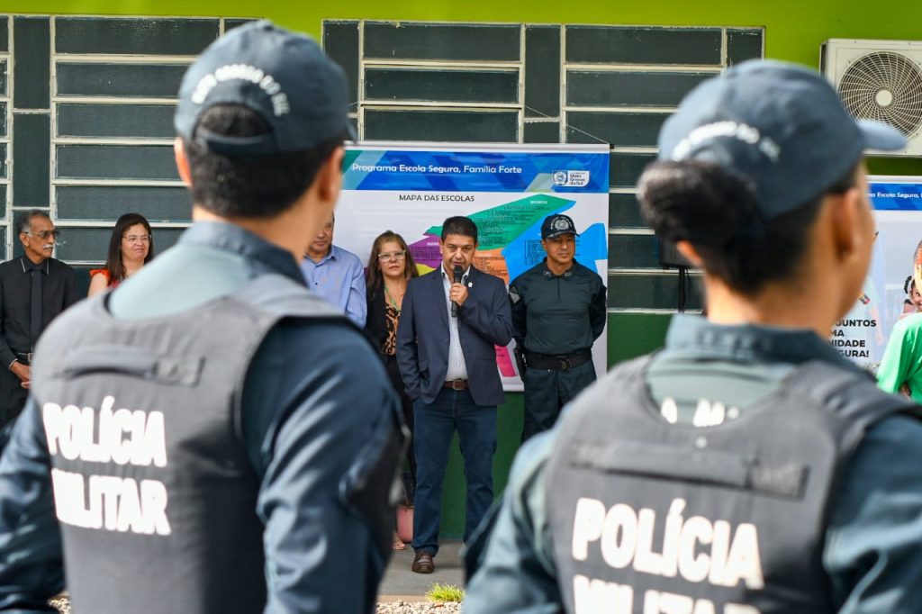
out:
M381 361L346 325L278 327L254 357L242 412L262 479L266 612L365 614L385 559L374 523L349 504L347 490L368 443L395 425ZM389 459L394 475L398 461ZM385 495L372 507L390 509Z

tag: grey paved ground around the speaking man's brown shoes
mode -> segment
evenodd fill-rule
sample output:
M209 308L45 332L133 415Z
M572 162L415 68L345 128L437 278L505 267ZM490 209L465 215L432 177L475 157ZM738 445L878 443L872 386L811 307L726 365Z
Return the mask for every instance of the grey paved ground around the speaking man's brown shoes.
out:
M435 583L464 587L464 567L458 557L459 549L460 541L443 541L435 557L435 571L432 573L410 571L413 549L409 544L405 550L395 550L378 590L379 600L422 601L426 598L426 591Z

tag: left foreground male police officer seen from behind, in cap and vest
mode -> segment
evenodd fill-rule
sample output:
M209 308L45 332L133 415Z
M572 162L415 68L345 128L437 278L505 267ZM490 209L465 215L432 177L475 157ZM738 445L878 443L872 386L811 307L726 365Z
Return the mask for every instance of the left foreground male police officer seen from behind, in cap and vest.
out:
M267 21L188 69L195 223L41 338L0 461L0 611L50 611L66 571L75 612L372 612L398 406L298 267L337 200L347 104L316 43Z

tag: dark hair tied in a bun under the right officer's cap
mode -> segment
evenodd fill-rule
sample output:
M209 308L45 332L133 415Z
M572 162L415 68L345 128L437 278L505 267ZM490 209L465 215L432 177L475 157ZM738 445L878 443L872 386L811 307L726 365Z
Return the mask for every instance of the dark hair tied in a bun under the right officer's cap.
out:
M658 236L690 242L708 273L751 295L795 273L823 198L855 186L856 172L857 163L822 194L766 219L739 175L702 160L660 161L641 176L638 200Z

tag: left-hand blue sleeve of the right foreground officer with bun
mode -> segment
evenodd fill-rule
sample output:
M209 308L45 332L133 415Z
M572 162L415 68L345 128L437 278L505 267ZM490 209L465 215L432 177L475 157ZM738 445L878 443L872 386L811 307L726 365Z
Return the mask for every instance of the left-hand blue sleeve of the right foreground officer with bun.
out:
M556 431L523 444L496 512L479 569L467 584L467 614L557 614L561 595L545 510L544 471Z

